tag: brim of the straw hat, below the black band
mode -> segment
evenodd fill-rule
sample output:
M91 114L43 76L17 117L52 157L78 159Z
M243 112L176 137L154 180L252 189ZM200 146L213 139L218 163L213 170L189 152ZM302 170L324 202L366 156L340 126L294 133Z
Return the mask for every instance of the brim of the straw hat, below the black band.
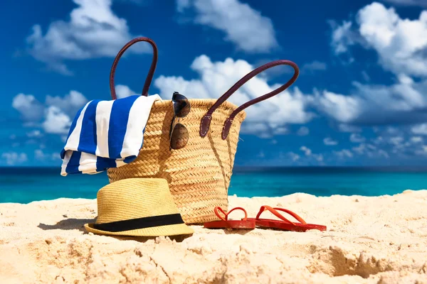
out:
M93 234L112 236L179 236L194 234L194 230L186 224L154 226L150 228L135 229L130 231L102 231L93 227L94 223L85 224L85 229Z

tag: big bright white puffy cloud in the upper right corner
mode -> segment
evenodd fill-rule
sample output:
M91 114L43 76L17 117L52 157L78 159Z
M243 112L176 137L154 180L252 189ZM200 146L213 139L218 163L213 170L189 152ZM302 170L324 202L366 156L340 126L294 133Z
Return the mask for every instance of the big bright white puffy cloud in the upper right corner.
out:
M396 75L427 76L427 11L409 20L374 2L359 10L357 26L344 21L334 27L331 44L337 54L356 44L374 49L380 64Z

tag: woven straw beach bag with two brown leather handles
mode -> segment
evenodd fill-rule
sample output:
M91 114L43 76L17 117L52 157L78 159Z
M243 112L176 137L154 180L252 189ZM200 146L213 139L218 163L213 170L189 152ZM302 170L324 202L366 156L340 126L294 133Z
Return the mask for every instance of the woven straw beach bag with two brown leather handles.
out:
M117 63L125 50L139 41L147 41L154 49L152 65L142 90L143 96L148 94L157 65L157 47L149 38L135 38L120 50L113 62L110 72L112 99L116 99L114 75ZM226 102L245 82L277 65L290 65L295 70L293 77L286 84L246 102L241 107ZM191 110L179 120L188 130L189 138L186 146L178 150L169 148L169 128L174 118L172 100L154 102L138 157L132 163L107 170L110 182L125 178L164 178L169 182L174 202L186 224L218 220L214 208L228 207L228 185L238 135L241 123L246 117L243 109L283 92L295 82L298 73L294 62L277 60L250 72L219 99L189 99Z

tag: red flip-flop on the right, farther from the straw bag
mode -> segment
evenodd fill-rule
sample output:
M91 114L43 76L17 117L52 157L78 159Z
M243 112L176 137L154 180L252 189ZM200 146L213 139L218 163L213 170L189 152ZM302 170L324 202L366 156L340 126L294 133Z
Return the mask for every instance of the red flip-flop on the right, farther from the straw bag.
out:
M260 219L260 214L262 214L267 210L273 213L275 217L278 217L280 220ZM290 220L283 217L283 215L280 214L278 211L282 211L290 214L292 217L297 219L298 222L291 222ZM307 230L317 229L320 231L326 231L326 226L316 225L316 224L307 224L307 222L305 222L304 219L302 219L296 213L288 209L276 208L276 207L273 208L267 205L260 207L260 212L258 212L255 219L250 218L248 220L255 221L256 226L269 228L269 229L280 229L285 231L307 231Z

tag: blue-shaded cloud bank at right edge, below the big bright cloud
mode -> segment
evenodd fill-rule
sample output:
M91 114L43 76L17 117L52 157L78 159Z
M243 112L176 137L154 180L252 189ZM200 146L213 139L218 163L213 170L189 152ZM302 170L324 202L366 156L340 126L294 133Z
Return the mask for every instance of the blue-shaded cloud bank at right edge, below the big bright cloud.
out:
M390 86L354 82L352 94L315 91L313 107L343 124L413 124L427 121L427 80L400 75Z

